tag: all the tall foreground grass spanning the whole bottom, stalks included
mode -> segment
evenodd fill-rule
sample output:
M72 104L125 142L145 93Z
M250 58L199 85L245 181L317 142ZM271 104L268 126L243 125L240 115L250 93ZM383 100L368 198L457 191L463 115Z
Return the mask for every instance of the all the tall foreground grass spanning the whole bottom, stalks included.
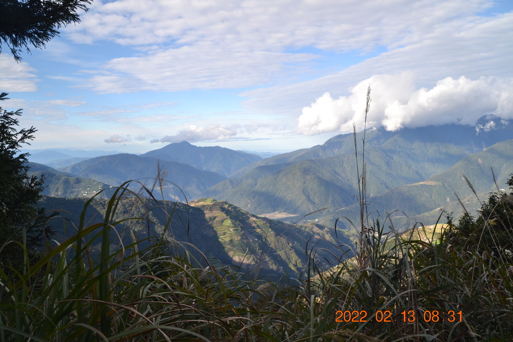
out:
M36 260L22 246L24 267L0 269L0 341L510 340L511 258L447 233L436 240L422 225L400 233L389 215L373 218L364 157L359 165L358 242L341 246L330 268L306 249L300 276L278 283L216 267L174 240L173 207L147 188L146 197L129 182L117 188L97 224L86 222L90 199L76 226L67 222L73 236ZM127 200L146 210L120 215ZM155 208L168 219L152 239L147 213ZM138 239L142 223L148 234Z

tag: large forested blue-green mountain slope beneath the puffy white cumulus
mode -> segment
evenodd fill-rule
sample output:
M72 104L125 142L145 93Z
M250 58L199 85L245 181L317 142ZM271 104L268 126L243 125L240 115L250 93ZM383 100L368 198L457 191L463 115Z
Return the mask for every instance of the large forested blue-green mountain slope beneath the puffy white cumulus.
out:
M369 129L365 136L368 195L422 182L488 144L513 136L512 132L508 126L479 134L476 128L459 125L399 132ZM359 152L363 151L362 139L363 133L357 134ZM361 172L360 153L358 158ZM284 211L304 215L325 207L336 210L350 206L358 193L352 134L273 156L247 168L246 173L214 185L201 196L227 200L258 214Z

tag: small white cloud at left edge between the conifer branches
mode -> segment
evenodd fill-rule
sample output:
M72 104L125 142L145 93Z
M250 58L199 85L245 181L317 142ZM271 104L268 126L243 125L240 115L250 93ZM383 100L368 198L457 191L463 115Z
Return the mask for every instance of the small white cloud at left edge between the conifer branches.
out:
M28 63L17 63L11 55L0 54L0 89L3 92L37 91L36 71Z

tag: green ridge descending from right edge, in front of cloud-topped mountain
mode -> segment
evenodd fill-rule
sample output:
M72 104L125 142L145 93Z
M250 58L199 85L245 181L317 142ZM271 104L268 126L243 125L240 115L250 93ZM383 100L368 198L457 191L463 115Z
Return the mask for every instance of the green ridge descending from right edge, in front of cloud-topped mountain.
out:
M464 205L466 210L476 213L481 206L478 198L485 198L489 192L498 191L497 186L505 187L512 170L513 140L505 140L464 157L449 169L422 182L393 188L373 197L369 209L386 215L386 212L401 208L401 212L394 216L408 214L413 222L416 219L420 222L435 222L441 208L458 213ZM467 180L476 194L472 192ZM352 219L358 215L358 205L331 214L332 217L348 216ZM394 222L399 224L400 220Z

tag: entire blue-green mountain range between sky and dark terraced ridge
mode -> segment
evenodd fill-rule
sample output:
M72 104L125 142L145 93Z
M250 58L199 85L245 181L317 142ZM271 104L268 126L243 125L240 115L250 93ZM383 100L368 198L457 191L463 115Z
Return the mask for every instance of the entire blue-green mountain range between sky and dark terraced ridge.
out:
M225 234L218 236L222 244L224 241L224 253L230 256L228 247L234 248L230 258L237 258L242 257L239 254L244 249L256 255L256 249L247 245L251 240L248 236L254 234L254 220L294 222L315 212L302 222L317 224L321 229L333 227L338 217L358 219L356 195L364 164L369 211L382 216L393 213L394 223L402 228L411 227L416 220L434 224L441 209L456 216L463 210L462 205L469 211L478 209L478 197L486 198L489 191L505 187L513 173L513 140L509 140L513 138L513 126L499 121L490 126L495 129L485 131L484 125L429 126L397 132L371 128L358 133L356 139L353 134L340 134L322 145L265 159L243 151L182 142L142 155L96 156L59 170L30 166L34 174L45 174L45 194L49 196L90 197L101 189L115 189L127 180L139 179L140 183L130 188L134 192L144 184L161 191L160 198L166 200L197 200L192 202L194 210L217 208L213 216L201 215L221 227L215 229ZM152 179L157 174L166 180L162 187ZM472 193L465 177L478 196ZM104 190L103 196L108 197L112 191ZM215 216L221 213L218 206L261 218L234 215L221 222ZM226 215L226 210L223 212ZM349 226L347 220L339 221L339 228ZM241 227L247 227L246 237L230 237L232 230L242 234ZM343 236L352 238L348 230ZM333 242L332 237L327 240ZM287 244L293 244L292 240ZM287 244L282 246L285 250ZM289 264L280 265L282 270L292 272Z

